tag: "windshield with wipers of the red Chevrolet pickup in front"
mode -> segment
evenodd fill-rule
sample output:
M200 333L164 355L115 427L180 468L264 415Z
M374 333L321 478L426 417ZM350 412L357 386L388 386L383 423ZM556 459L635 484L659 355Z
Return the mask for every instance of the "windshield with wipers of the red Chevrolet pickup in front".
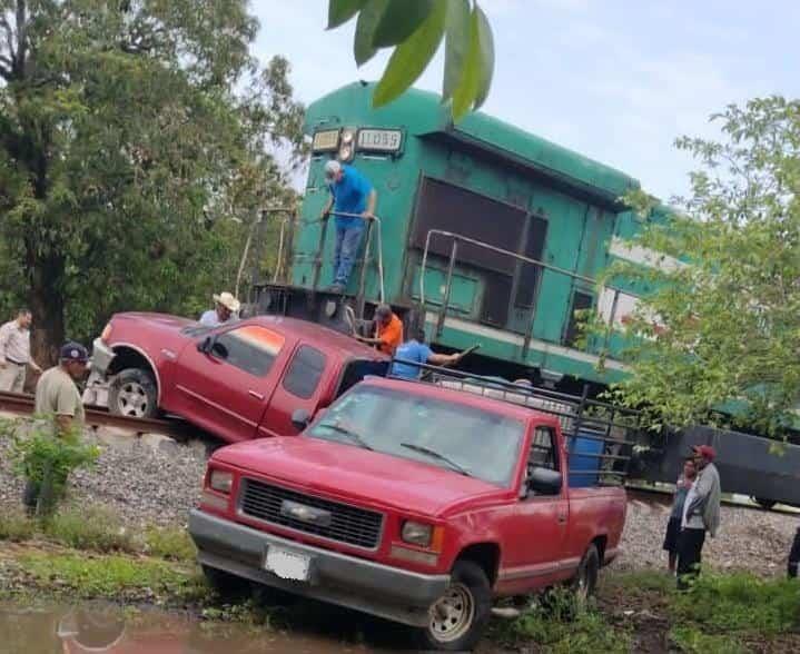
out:
M500 414L369 386L353 389L306 432L503 487L511 483L523 434L521 422Z

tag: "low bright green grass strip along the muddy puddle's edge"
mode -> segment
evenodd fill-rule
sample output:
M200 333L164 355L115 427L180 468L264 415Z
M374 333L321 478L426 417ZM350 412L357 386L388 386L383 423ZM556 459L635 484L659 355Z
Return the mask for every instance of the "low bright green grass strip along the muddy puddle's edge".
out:
M164 561L80 553L28 554L18 559L38 584L80 598L152 597L199 601L208 596L195 571Z

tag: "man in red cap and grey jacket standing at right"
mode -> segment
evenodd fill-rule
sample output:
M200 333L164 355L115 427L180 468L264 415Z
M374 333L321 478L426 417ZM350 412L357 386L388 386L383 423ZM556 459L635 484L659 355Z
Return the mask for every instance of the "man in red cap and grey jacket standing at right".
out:
M712 538L720 526L722 488L713 460L717 452L710 445L693 448L698 476L683 504L681 534L678 537L678 587L687 589L700 571L705 533Z

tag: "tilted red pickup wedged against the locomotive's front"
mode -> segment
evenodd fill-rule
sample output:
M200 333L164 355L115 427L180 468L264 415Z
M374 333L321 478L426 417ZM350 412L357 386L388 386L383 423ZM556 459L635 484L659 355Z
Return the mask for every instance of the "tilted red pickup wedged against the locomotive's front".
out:
M295 434L293 410L314 415L387 367L385 355L293 318L209 328L175 316L118 314L95 341L87 395L111 413L174 414L233 443Z

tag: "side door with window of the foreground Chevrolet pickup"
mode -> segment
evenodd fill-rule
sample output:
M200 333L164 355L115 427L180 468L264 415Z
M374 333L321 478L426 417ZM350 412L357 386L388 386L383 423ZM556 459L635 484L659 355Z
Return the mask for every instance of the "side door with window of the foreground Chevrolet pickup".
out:
M559 470L563 467L555 432L551 427L535 427L531 439L527 465ZM530 492L521 497L505 546L500 571L504 592L525 593L550 585L564 577L563 557L570 519L570 503L562 473L557 495Z

